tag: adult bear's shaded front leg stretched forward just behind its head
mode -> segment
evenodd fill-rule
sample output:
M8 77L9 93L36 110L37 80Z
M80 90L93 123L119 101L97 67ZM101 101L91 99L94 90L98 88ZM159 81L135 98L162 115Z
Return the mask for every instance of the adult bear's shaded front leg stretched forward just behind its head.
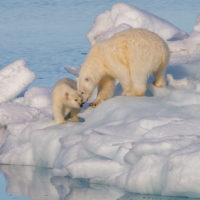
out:
M111 76L104 76L98 85L98 94L94 102L90 106L95 107L102 101L109 99L113 96L115 88L115 79Z

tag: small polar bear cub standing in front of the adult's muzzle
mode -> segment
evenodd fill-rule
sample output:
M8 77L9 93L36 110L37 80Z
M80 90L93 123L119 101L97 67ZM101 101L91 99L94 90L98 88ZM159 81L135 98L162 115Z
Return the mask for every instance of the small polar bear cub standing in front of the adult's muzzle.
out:
M66 123L66 117L71 121L80 121L77 114L80 111L82 99L76 90L76 86L75 81L64 78L53 87L52 110L57 124Z

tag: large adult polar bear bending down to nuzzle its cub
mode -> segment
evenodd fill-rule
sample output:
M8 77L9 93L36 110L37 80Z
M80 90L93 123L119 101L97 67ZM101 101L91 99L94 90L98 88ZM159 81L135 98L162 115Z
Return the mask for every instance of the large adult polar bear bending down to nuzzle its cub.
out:
M98 95L91 106L113 96L115 79L123 95L143 96L148 77L153 73L154 85L166 85L165 70L169 49L157 34L146 29L128 29L94 45L83 63L78 91L87 102L98 86Z

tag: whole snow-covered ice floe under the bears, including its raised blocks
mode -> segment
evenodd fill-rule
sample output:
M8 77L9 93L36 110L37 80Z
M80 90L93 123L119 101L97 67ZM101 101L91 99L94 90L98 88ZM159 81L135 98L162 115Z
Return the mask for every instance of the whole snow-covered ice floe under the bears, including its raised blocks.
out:
M105 193L105 199L117 199L125 191L200 197L199 16L193 31L185 37L181 30L163 19L135 7L116 4L96 18L93 28L100 27L96 36L107 39L133 26L122 19L134 21L135 13L142 19L138 26L154 27L153 31L160 30L159 34L166 40L173 38L167 41L172 51L167 87L155 88L150 78L146 95L136 98L120 96L121 88L117 85L113 98L95 109L82 109L79 116L83 122L56 125L52 120L51 90L32 87L16 97L33 81L34 73L24 67L23 61L8 65L0 71L1 164L50 168L48 180L56 188L62 185L57 181L58 176L69 176L72 182L80 178L91 185L100 183L121 189ZM117 16L115 25L110 15ZM103 29L105 16L108 24ZM179 40L175 40L177 36ZM78 74L73 67L66 70ZM4 87L9 93L3 92ZM66 188L65 192L70 193L69 190ZM51 191L55 197L55 189ZM98 199L94 191L87 192L88 199L94 196ZM73 191L70 194L72 199L80 199L82 193L77 194L78 198L73 196Z

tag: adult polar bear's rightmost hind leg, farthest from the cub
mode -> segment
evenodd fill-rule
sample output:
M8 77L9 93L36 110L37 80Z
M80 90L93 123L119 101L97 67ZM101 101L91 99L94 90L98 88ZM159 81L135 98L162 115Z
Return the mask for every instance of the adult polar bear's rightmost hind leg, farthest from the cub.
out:
M153 73L154 75L154 85L156 87L164 87L166 86L166 80L165 80L165 68L166 68L166 65L164 64L161 64L159 69Z

